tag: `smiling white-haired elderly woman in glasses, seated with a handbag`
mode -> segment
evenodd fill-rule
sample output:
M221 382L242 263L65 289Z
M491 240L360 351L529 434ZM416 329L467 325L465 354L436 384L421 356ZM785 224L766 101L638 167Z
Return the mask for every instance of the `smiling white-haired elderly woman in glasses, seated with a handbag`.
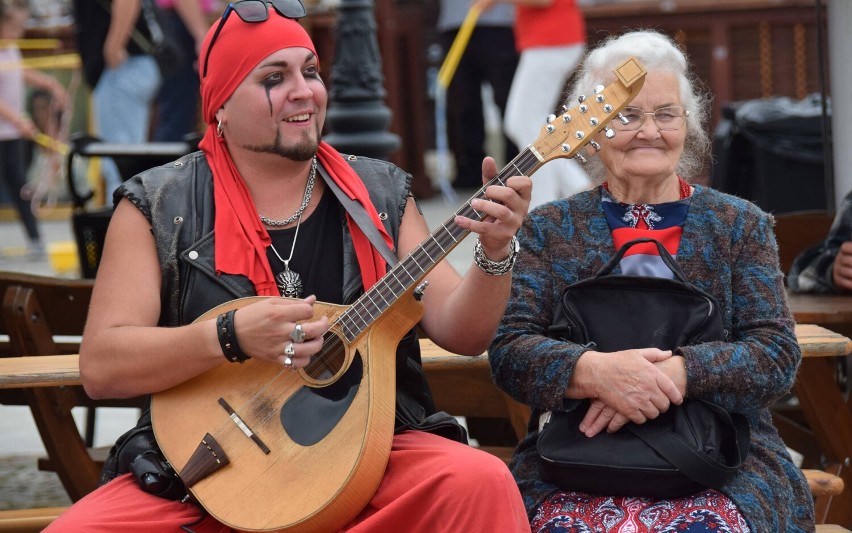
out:
M545 204L525 221L512 294L489 350L496 383L533 408L511 464L532 530L812 530L806 482L769 413L790 390L801 359L772 217L686 181L708 153L708 99L668 37L636 31L610 38L589 53L575 92L613 81L613 70L630 56L648 73L624 111L629 123L613 121L616 135L597 139L601 149L589 168L595 189ZM548 338L563 289L592 277L621 244L640 236L664 243L688 278L715 296L728 339L674 353L645 346L600 353ZM660 261L636 253L619 269L655 275ZM750 453L720 490L676 499L562 490L542 480L536 441L538 415L566 398L591 400L580 424L589 437L654 419L683 398L705 399L747 417Z

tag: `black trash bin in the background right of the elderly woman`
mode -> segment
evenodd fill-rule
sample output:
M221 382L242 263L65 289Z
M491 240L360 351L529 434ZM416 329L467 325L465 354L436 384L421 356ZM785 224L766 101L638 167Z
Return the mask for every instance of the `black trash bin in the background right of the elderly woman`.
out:
M713 141L714 188L773 213L826 209L818 94L734 102L722 115Z

